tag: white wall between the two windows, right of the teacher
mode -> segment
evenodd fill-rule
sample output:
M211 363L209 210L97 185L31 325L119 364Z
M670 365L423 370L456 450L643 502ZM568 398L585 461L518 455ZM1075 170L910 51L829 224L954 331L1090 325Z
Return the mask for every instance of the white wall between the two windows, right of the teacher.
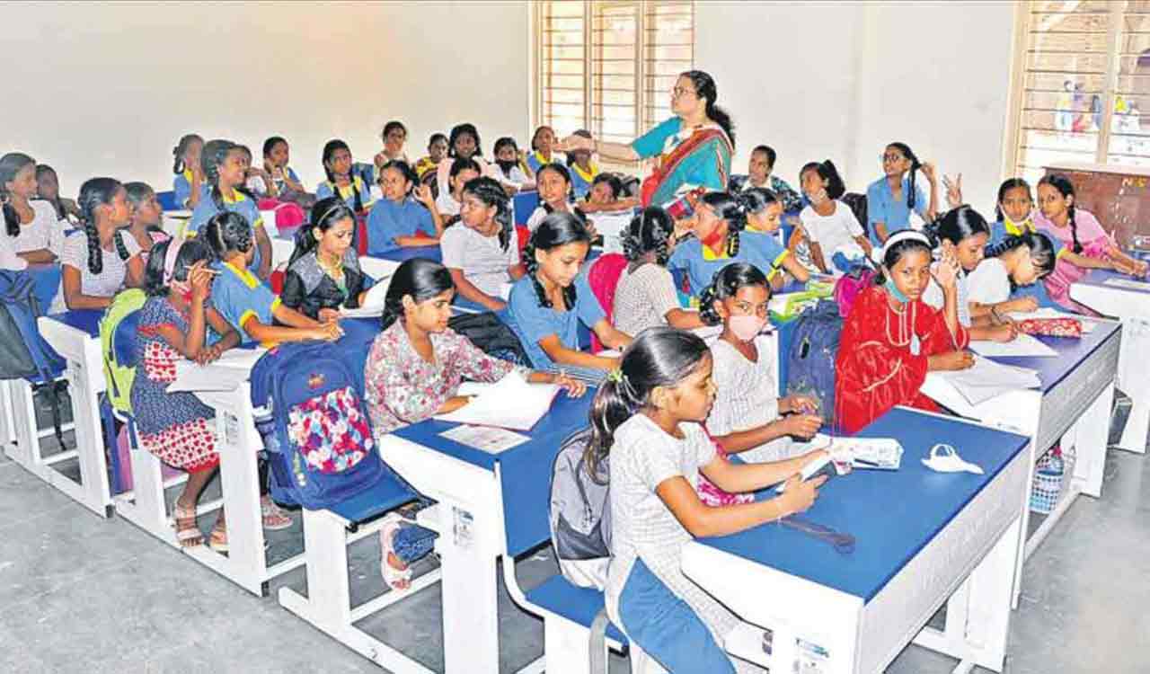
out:
M1013 20L1010 1L708 1L696 10L695 62L738 127L736 173L766 143L792 185L804 163L830 158L849 190L865 191L885 144L902 140L961 173L966 200L989 216Z

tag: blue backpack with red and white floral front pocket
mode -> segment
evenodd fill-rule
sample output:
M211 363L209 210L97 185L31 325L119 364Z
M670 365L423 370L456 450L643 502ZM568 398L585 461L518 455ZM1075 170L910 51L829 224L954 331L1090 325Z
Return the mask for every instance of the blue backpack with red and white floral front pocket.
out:
M252 405L270 467L271 498L322 510L374 487L385 473L363 405L362 374L327 342L283 344L252 369ZM362 372L362 359L359 359Z

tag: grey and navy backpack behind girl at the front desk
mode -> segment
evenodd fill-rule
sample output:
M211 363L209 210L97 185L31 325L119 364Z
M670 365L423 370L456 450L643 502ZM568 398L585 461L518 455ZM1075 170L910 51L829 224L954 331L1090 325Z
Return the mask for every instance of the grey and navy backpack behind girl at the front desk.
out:
M591 442L588 427L567 437L551 469L547 521L559 570L581 588L603 590L611 561L611 498L607 460L589 473L583 452Z

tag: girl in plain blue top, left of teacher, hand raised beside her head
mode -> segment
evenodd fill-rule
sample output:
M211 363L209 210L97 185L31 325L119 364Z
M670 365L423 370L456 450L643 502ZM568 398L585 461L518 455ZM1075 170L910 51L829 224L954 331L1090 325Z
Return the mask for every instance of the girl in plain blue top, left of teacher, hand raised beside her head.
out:
M443 236L443 216L431 187L416 186L415 171L404 161L389 161L379 170L383 198L367 216L368 255L399 248L434 246Z

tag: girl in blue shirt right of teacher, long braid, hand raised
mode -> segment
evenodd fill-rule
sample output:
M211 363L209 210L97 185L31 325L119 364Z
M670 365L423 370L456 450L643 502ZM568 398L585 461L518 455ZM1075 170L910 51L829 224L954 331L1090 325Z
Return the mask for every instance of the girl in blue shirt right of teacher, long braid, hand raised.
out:
M922 170L930 183L929 201L922 187L914 184L914 174ZM931 163L921 163L905 143L891 143L882 153L883 177L866 190L868 236L871 245L881 246L887 236L911 227L911 212L931 222L938 210L938 185Z

